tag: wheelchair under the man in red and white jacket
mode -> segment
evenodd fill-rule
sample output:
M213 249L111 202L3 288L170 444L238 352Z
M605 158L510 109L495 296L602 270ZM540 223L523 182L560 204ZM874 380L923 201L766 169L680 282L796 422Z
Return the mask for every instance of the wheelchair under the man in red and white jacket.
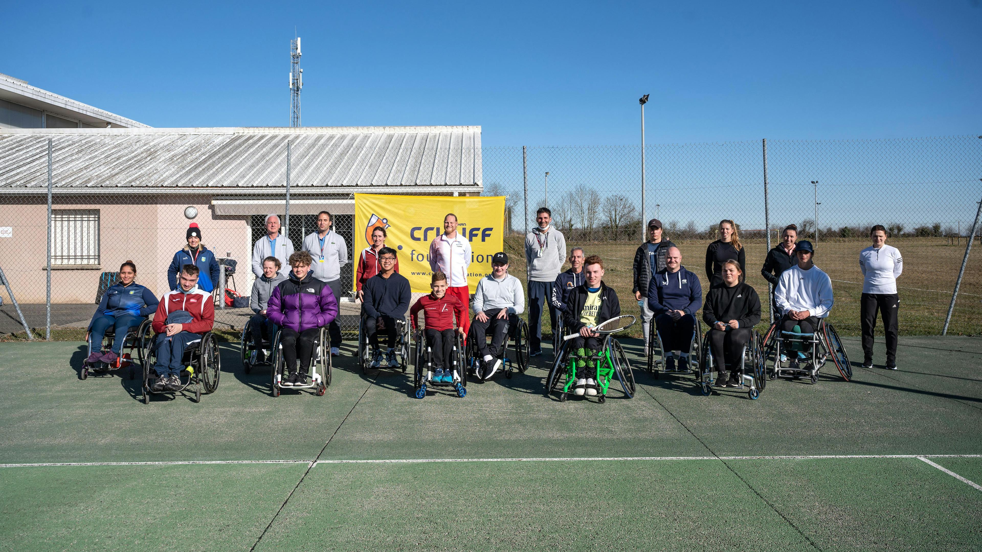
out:
M174 391L153 391L151 386L157 379L157 372L153 365L157 363L157 350L153 346L156 336L148 333L141 342L142 364L143 364L143 404L150 403L150 395L177 395L184 393L185 390L194 393L194 402L201 402L202 392L207 395L214 393L218 389L218 379L222 374L222 357L218 350L218 336L211 332L205 332L201 339L193 341L185 347L184 358L181 359L185 365L179 373L181 378L181 389Z

